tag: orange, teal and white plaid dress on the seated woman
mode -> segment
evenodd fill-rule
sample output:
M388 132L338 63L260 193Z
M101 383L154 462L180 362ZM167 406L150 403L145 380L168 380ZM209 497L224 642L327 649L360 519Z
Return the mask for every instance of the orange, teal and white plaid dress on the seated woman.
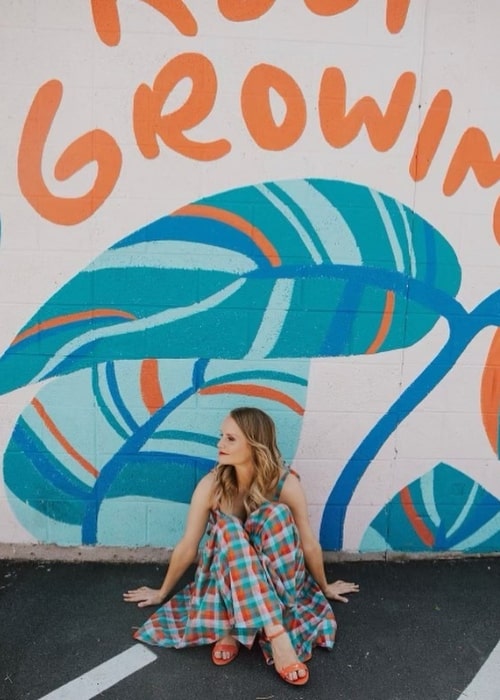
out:
M314 646L331 649L336 622L327 599L305 567L288 506L273 501L243 523L220 510L210 514L194 581L164 603L134 634L147 644L177 649L211 644L228 633L244 646L256 637L268 662L262 629L283 624L300 661Z

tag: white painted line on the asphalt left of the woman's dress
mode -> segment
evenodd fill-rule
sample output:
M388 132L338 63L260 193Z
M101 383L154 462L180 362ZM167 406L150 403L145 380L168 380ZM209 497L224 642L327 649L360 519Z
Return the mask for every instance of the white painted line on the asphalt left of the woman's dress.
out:
M74 681L44 695L40 700L90 700L156 659L156 654L142 644L137 644L75 678Z

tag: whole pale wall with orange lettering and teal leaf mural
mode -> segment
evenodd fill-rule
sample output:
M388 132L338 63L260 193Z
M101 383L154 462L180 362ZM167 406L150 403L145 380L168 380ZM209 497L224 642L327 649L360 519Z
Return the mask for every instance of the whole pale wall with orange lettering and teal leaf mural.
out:
M172 546L252 404L325 550L500 549L499 21L2 2L1 542Z

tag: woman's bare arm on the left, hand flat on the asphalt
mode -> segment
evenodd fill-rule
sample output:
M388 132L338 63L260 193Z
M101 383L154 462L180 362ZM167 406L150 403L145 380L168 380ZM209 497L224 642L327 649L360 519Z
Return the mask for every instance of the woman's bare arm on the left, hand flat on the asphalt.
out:
M160 588L141 586L123 594L127 603L137 603L139 608L147 605L160 605L171 593L175 584L184 574L198 554L198 546L203 537L211 507L213 475L207 474L194 490L189 506L184 534L172 552L167 572Z

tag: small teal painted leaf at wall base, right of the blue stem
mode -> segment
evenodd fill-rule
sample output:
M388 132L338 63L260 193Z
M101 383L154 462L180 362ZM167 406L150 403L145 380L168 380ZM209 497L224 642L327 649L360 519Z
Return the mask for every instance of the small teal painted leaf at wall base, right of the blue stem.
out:
M402 489L365 532L361 551L494 552L500 501L469 476L438 464Z

